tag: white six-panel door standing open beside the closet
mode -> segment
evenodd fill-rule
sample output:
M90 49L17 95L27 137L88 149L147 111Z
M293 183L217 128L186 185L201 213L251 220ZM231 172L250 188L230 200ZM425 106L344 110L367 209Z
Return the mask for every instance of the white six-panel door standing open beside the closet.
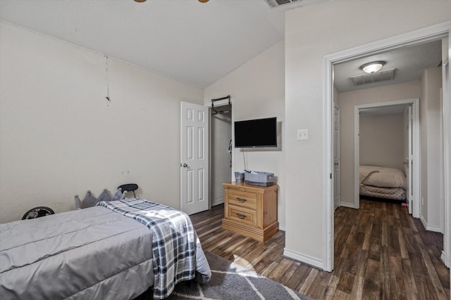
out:
M180 209L195 214L209 209L209 109L180 105Z

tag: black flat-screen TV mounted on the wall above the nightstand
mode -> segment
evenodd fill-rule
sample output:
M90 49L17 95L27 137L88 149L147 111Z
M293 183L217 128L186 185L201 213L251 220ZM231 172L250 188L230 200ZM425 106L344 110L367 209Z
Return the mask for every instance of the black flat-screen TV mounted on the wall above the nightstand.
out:
M277 147L277 118L235 122L235 148Z

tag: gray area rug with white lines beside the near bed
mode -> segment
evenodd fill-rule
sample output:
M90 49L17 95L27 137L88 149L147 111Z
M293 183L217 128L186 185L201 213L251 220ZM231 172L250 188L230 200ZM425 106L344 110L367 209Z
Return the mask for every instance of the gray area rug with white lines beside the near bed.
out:
M310 299L221 256L205 256L211 268L208 284L180 282L167 299Z

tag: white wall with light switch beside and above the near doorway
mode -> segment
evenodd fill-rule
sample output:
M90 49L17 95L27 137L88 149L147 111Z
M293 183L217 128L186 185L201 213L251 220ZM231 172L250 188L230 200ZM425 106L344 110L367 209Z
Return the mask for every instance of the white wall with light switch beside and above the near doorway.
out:
M292 256L319 266L324 259L323 57L450 20L450 11L451 1L335 0L285 13L285 250ZM297 129L309 129L309 141L297 141Z

